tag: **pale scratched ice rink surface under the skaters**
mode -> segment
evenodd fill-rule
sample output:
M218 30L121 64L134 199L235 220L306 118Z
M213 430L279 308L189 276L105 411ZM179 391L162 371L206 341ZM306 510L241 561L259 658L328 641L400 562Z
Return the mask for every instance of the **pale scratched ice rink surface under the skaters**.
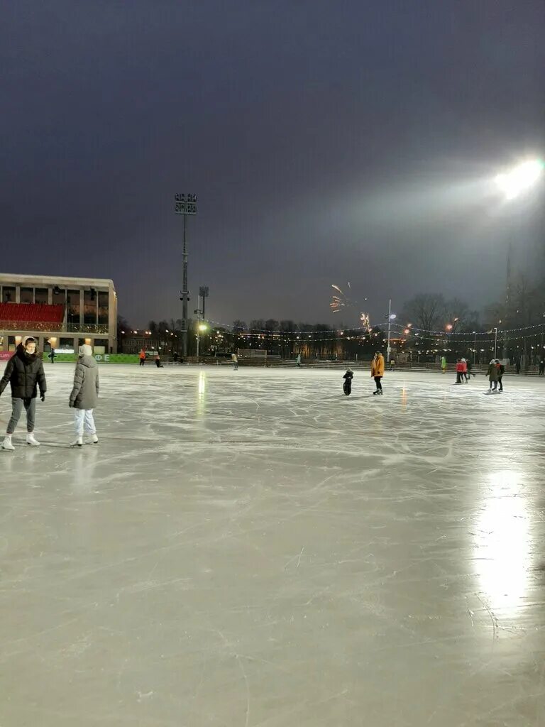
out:
M544 379L102 366L74 450L46 371L0 451L1 727L545 725Z

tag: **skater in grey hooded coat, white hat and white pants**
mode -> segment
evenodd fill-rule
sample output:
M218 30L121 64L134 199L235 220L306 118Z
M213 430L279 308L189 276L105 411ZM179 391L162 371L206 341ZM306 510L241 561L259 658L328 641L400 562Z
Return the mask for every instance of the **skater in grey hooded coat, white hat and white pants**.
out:
M79 347L79 358L74 371L74 384L68 399L68 406L74 411L76 439L71 447L81 447L84 443L84 430L89 435L89 444L98 442L97 428L94 426L93 409L98 404L98 364L94 360L91 346Z

